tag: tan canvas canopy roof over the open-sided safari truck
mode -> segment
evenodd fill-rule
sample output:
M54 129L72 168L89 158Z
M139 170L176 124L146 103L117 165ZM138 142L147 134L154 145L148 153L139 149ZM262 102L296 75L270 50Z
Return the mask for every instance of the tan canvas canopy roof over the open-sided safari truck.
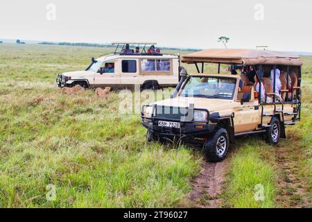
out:
M302 66L300 57L293 53L257 49L207 49L182 56L182 62Z

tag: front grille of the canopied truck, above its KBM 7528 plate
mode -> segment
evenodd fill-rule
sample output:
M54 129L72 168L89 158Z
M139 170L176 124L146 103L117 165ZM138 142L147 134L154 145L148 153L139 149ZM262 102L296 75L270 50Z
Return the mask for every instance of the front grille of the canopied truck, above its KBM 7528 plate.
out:
M158 105L156 108L156 118L180 121L181 117L187 116L187 112L187 108L174 108Z

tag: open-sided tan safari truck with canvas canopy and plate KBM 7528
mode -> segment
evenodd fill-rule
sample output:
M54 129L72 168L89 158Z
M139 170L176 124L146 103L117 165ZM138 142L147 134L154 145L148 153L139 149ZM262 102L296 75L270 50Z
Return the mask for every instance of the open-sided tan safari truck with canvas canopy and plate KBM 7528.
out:
M260 133L277 144L280 137L286 138L285 127L300 121L298 56L208 49L183 56L182 62L196 65L198 74L183 70L170 99L142 107L148 142L200 142L208 160L218 162L235 137ZM218 73L205 74L205 63L216 64ZM221 64L229 67L229 74L220 74Z

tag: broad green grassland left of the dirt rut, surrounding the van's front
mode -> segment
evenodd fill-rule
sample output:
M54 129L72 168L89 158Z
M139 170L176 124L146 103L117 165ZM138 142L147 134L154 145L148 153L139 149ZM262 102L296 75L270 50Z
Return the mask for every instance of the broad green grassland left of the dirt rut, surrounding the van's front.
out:
M55 75L107 49L1 44L0 207L177 207L200 157L146 144L138 114L87 90L64 95ZM46 200L46 185L56 200Z

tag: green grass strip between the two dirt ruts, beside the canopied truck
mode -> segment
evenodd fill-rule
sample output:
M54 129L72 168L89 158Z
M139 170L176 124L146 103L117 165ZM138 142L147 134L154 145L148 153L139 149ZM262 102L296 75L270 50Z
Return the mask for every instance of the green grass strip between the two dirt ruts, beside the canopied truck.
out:
M258 138L259 140L259 138ZM261 153L266 144L250 142L239 148L229 164L229 176L226 182L225 206L235 208L275 207L275 171ZM263 186L263 200L254 197Z

